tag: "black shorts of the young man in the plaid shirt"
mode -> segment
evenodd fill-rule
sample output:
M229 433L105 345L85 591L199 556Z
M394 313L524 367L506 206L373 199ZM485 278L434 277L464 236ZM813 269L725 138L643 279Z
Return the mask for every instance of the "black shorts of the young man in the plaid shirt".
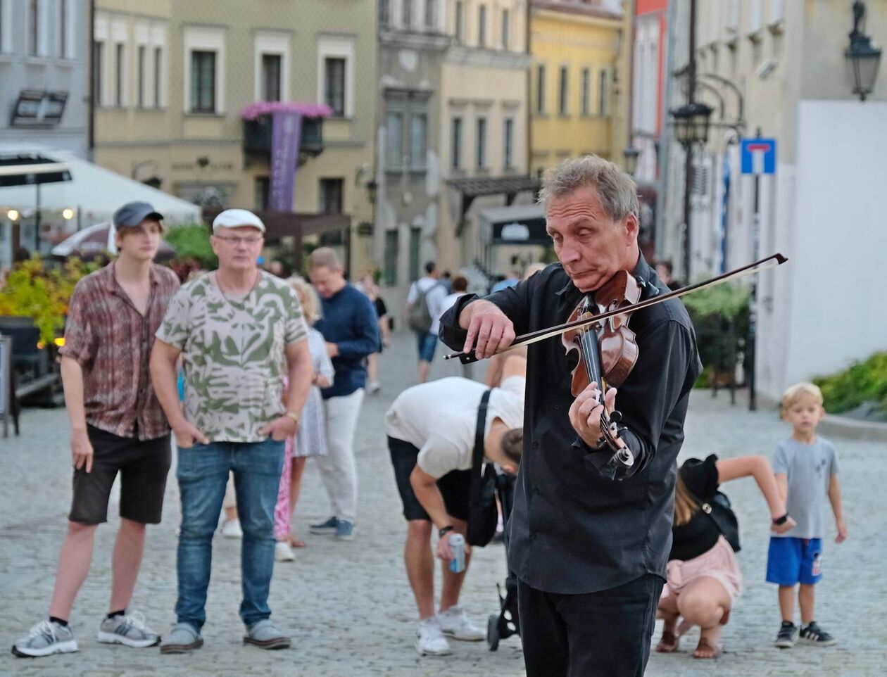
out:
M133 522L159 524L163 492L172 461L169 435L138 440L118 437L87 426L92 445L92 470L74 471L74 498L71 522L107 522L108 497L114 478L120 473L120 516Z

